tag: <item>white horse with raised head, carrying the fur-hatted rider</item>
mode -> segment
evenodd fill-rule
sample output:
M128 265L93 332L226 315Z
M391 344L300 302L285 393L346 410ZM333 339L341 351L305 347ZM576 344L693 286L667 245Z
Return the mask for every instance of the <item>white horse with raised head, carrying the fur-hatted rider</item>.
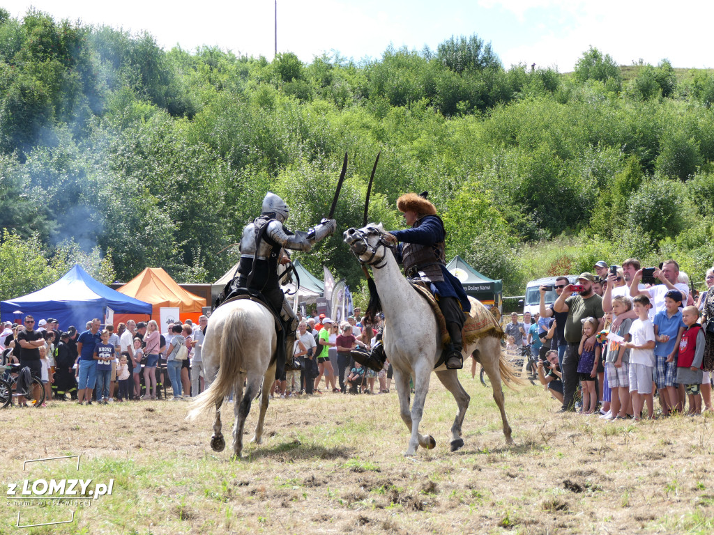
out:
M431 372L435 371L434 365L441 356L441 335L431 306L402 275L385 234L381 225L371 224L359 230L350 228L343 233L343 238L360 262L373 268L375 290L384 312L384 350L394 370L401 417L411 431L405 455L413 455L419 446L431 449L436 445L430 435L419 434L419 422ZM501 333L487 335L465 350L466 355L476 352L475 355L491 379L493 399L501 410L503 434L506 435L506 442L512 444L511 426L508 425L503 405L501 375L507 385L518 383L519 379L502 355ZM414 380L411 409L410 376ZM461 386L456 370L439 367L436 377L453 394L458 407L451 427L451 451L454 452L463 446L461 424L471 398Z

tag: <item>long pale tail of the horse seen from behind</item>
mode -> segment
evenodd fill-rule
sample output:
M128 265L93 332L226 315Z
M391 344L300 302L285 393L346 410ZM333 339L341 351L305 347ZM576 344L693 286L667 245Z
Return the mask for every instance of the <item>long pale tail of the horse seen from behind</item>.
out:
M223 321L221 330L214 330L211 334L218 336L218 373L211 386L201 392L193 401L196 408L188 413L187 419L194 419L202 412L214 409L218 403L231 393L236 384L238 374L243 368L243 341L250 340L249 333L243 332L241 321L242 311L231 311ZM216 347L214 345L213 347Z

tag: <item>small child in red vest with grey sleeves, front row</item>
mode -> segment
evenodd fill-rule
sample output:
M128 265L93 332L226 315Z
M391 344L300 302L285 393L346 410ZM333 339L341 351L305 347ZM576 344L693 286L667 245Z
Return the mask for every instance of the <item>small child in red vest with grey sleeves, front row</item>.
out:
M689 399L689 416L702 414L702 397L699 385L702 382L702 360L704 357L704 330L697 323L699 310L688 306L682 311L686 330L681 335L677 359L677 382L684 384Z

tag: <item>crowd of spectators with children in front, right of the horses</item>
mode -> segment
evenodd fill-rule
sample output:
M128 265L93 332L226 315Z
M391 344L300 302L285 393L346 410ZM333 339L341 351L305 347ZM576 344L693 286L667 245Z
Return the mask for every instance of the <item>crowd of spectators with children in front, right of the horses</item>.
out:
M635 258L601 260L593 271L577 284L558 277L549 306L540 288L533 333L517 316L506 326L516 345L524 333L540 342L538 379L560 412L638 420L712 410L714 267L701 295L675 260L644 269Z

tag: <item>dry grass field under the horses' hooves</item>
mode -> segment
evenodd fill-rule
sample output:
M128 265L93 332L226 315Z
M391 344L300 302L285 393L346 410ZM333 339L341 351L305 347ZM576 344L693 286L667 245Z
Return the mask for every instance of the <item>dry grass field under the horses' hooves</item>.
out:
M714 415L605 423L555 414L540 387L506 391L506 446L490 389L471 394L459 452L448 449L456 410L436 377L422 431L436 449L403 457L408 433L395 392L277 399L263 444L245 458L212 452L208 418L185 402L51 403L6 409L0 474L24 479L114 479L89 506L6 500L2 534L461 534L710 533ZM224 432L230 433L230 417ZM252 436L256 404L248 417ZM74 460L29 465L40 457ZM92 487L89 487L92 488ZM47 519L57 526L15 527Z

